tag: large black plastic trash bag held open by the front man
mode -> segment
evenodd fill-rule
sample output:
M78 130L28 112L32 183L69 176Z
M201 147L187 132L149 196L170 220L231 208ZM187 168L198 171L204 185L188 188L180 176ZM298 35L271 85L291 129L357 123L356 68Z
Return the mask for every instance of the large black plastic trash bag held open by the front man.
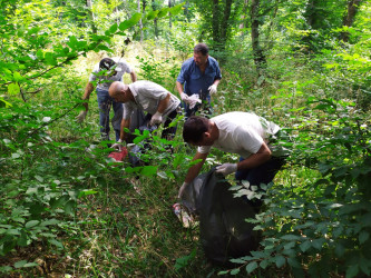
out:
M201 244L206 257L218 266L233 266L240 258L256 250L260 232L246 218L255 218L252 203L234 198L231 185L215 169L198 176L184 191L182 203L199 215Z

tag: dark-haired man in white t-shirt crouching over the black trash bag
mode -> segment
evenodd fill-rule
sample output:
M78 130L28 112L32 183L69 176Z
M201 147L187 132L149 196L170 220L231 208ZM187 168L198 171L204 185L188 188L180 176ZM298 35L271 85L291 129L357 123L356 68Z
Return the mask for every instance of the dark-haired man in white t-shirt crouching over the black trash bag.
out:
M184 123L183 138L198 147L194 160L201 159L201 162L188 169L179 198L199 173L212 147L241 156L240 162L223 163L216 167L216 172L224 176L235 172L237 180L247 180L255 186L271 182L285 160L281 153L271 151L267 145L269 138L279 130L274 122L250 112L228 112L211 119L198 116L188 118Z

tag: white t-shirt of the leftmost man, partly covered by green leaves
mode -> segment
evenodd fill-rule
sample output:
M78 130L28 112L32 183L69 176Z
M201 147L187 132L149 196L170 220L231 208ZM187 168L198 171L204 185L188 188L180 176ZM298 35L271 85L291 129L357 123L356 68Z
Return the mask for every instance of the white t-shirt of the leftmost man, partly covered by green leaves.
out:
M99 69L99 62L94 67L94 70L89 77L89 82L92 82L97 79L99 79L99 85L97 86L97 88L101 89L101 90L108 90L109 86L114 82L114 81L123 81L123 76L126 73L131 73L131 68L130 66L123 60L123 58L111 58L116 63L117 67L115 68L115 70L117 71L117 73L113 77L105 77L105 76L100 76L97 77L96 75L100 71Z

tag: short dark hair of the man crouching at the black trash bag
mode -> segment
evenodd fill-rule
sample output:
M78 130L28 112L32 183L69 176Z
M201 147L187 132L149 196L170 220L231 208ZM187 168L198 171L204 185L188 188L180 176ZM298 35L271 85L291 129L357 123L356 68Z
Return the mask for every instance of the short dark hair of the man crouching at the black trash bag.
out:
M199 116L191 116L184 123L183 139L185 142L197 143L203 139L203 135L208 128L208 119Z

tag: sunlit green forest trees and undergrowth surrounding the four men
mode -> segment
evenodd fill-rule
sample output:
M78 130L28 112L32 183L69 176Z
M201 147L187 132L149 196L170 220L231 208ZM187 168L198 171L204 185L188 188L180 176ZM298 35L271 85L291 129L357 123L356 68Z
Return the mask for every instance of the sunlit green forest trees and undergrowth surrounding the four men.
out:
M0 6L3 276L370 276L369 0ZM248 220L260 249L231 269L209 265L198 227L183 228L170 209L193 155L182 117L172 142L138 135L153 148L137 168L107 158L94 93L86 122L75 119L102 57L123 57L139 80L176 92L197 42L222 68L215 115L254 111L292 135L282 141L293 150L287 166ZM215 150L204 170L234 159Z

